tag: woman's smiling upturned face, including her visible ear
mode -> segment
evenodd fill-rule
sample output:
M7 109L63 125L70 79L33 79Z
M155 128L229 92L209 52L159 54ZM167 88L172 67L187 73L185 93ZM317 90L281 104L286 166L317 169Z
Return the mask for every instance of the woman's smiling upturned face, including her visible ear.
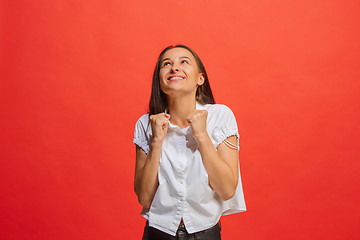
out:
M160 62L160 88L169 96L194 94L204 83L194 56L185 48L168 50Z

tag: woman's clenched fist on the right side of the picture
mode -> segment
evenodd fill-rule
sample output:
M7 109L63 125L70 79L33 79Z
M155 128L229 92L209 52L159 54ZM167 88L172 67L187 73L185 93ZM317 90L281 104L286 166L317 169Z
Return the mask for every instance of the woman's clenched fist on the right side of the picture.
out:
M208 134L206 131L207 114L208 112L206 110L195 110L187 118L187 121L190 123L193 136L198 142Z

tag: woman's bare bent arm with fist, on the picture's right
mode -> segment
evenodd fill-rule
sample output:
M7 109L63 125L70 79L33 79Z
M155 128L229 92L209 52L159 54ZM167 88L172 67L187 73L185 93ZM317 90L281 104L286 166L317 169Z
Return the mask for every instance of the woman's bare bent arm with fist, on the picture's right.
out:
M206 119L207 111L196 110L189 116L188 121L192 127L193 136L198 142L210 186L225 201L233 197L236 191L239 178L239 155L236 149L224 143L221 143L216 151L206 131ZM227 140L237 145L236 136L230 136Z

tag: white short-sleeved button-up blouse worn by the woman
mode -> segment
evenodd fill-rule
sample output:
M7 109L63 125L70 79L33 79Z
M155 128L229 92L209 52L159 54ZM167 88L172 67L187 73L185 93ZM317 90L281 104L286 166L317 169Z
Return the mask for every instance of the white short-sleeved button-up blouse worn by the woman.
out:
M225 105L196 103L197 110L207 110L206 130L215 149L230 136L239 133L235 116ZM148 154L151 145L149 114L136 122L133 143ZM238 144L239 145L239 144ZM198 144L191 127L180 129L169 123L158 170L159 187L150 208L141 215L149 226L175 236L181 218L189 233L205 230L217 224L221 215L246 211L244 194L239 181L235 195L223 201L211 189Z

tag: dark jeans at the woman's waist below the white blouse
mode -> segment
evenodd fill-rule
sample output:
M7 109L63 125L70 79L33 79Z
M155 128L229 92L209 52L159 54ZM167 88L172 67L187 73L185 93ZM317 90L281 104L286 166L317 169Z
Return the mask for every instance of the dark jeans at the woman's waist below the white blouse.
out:
M221 240L220 231L221 224L219 223L211 228L192 234L189 234L186 231L185 225L180 225L176 232L176 236L171 236L156 228L149 227L149 222L146 222L142 240Z

